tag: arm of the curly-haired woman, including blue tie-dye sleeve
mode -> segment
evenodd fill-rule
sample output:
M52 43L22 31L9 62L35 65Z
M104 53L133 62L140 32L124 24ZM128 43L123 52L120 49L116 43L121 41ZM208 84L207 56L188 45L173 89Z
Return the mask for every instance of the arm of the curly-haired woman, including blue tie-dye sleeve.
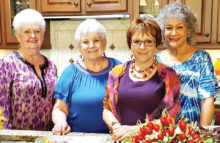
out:
M201 53L198 97L202 99L200 101L200 125L204 126L212 123L214 100L217 99L219 90L211 57L206 51L202 50Z

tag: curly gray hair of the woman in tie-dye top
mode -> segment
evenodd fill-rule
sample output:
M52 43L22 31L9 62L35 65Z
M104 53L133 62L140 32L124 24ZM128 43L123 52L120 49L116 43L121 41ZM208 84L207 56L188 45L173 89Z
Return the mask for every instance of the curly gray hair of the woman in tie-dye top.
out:
M161 9L159 15L156 18L156 21L162 31L162 39L164 41L164 45L167 46L164 35L164 26L170 18L177 18L185 22L189 34L187 42L189 44L193 44L195 42L194 37L197 27L196 15L189 7L177 1L168 4L163 9Z

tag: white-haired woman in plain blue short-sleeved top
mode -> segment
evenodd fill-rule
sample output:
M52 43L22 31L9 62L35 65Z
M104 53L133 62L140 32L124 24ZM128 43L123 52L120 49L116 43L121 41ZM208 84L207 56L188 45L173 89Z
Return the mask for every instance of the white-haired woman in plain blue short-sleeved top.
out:
M102 119L102 101L108 73L121 62L103 56L106 31L95 19L83 21L76 30L75 39L82 58L68 66L56 84L53 133L107 133Z

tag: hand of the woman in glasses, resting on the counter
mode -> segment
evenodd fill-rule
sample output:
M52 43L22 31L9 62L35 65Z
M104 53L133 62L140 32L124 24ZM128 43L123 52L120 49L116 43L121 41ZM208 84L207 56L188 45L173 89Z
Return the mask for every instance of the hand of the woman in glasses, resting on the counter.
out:
M125 137L130 136L130 134L135 133L138 130L138 126L115 124L112 126L112 137L115 141L123 141Z

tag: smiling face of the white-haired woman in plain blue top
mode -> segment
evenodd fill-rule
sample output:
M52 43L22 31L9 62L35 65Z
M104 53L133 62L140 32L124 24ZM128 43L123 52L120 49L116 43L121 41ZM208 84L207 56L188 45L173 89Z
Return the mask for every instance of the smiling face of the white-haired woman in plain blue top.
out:
M106 40L99 33L82 34L78 44L80 53L85 59L97 59L102 57L106 48Z

